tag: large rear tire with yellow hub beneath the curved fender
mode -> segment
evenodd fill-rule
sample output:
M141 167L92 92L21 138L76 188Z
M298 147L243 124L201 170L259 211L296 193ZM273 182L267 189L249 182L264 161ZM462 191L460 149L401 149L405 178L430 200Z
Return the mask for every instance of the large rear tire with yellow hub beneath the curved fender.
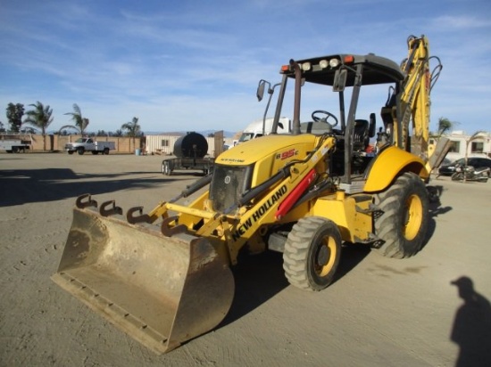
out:
M418 175L399 176L385 192L375 195L382 214L374 219L377 251L385 257L412 257L426 240L429 196Z

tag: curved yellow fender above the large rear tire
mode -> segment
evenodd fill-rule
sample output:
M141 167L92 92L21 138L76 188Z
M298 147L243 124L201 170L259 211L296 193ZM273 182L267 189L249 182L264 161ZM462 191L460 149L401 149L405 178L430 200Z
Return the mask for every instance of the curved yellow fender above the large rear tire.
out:
M368 167L364 192L385 190L402 172L414 172L425 181L429 179L424 160L395 146L387 147L379 152Z

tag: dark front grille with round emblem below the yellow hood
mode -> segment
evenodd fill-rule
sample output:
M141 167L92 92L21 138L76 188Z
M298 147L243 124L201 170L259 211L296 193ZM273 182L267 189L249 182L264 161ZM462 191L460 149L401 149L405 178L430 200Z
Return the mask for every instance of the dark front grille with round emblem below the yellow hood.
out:
M215 165L210 187L213 210L223 212L236 204L243 192L250 188L252 166L229 167Z

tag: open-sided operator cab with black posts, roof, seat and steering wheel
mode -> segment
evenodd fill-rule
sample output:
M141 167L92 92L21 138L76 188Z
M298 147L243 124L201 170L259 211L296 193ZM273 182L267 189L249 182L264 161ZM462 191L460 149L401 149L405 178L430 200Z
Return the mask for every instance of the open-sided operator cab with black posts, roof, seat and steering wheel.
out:
M287 98L287 82L293 79L293 134L336 136L337 149L330 156L330 174L339 177L340 182L347 185L352 181L364 180L366 168L374 157L369 146L370 138L376 135L376 118L375 113L370 113L369 118L362 117L365 112L357 114L360 91L362 86L364 90L365 86L388 84L394 95L397 95L400 83L404 80L399 65L371 53L335 54L301 61L291 60L281 68L280 73L283 81L275 118L281 113L284 99ZM313 93L308 94L311 90ZM330 97L333 92L337 94L337 102L334 104L337 112L333 108L312 109L312 103L319 106L331 101L330 104L333 104ZM301 123L301 116L309 113L308 110L313 110L310 120L304 119L307 122ZM385 118L383 122L384 127L387 127Z

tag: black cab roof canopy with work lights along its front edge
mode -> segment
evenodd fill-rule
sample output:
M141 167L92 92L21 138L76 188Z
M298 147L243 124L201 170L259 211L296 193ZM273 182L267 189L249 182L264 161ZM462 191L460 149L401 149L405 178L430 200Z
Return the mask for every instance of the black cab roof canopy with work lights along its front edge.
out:
M339 65L337 67L333 68L328 66L326 68L322 68L320 66L320 61L328 61L329 63L329 61L332 59L337 59L339 61ZM362 86L397 83L404 79L404 74L399 65L392 60L385 57L376 56L373 53L369 53L367 55L339 53L295 62L300 65L301 69L304 63L310 62L310 69L302 69L302 77L304 77L305 81L307 82L325 86L333 85L336 70L342 68L347 69L345 86L354 86L356 66L359 64L363 65ZM293 68L283 71L282 74L287 74L288 77L295 77L295 71Z

